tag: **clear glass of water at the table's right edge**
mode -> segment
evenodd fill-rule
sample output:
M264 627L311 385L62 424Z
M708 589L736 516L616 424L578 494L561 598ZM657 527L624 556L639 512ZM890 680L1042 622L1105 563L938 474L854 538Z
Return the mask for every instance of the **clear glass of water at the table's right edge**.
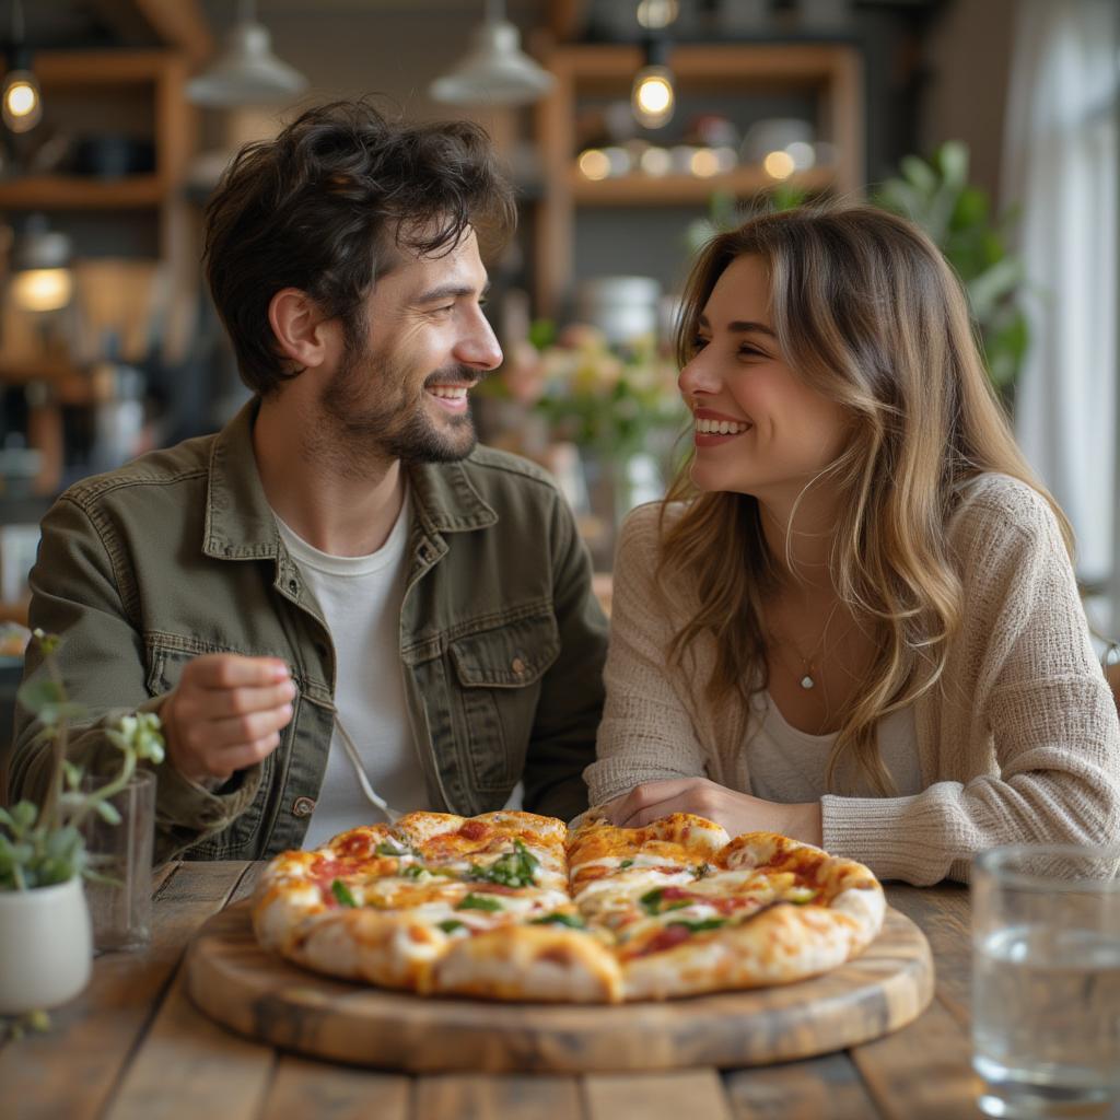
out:
M1015 844L972 870L972 1065L990 1117L1120 1101L1120 847Z

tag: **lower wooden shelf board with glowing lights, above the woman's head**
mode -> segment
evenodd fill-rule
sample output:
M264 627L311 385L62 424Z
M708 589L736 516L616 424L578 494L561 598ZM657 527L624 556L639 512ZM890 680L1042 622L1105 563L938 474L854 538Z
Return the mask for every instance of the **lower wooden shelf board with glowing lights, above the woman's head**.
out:
M708 177L619 175L608 179L588 179L578 168L572 168L571 197L581 206L702 206L717 190L744 198L771 190L778 181L804 190L824 190L836 179L836 170L831 167L814 167L782 180L756 167L740 167Z

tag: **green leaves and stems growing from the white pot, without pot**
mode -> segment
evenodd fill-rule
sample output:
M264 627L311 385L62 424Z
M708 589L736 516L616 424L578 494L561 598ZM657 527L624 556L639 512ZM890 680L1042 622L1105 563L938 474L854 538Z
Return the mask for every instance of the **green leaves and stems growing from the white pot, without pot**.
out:
M125 716L106 731L121 752L120 768L95 790L83 790L83 768L66 757L69 724L84 715L66 696L55 660L58 637L37 629L32 634L44 655L47 676L26 682L17 693L25 708L43 724L39 737L50 744L50 787L41 812L30 801L0 809L0 892L31 890L65 883L76 876L94 877L87 866L82 824L96 813L110 824L120 823L111 799L128 785L141 759L164 759L164 736L153 712Z

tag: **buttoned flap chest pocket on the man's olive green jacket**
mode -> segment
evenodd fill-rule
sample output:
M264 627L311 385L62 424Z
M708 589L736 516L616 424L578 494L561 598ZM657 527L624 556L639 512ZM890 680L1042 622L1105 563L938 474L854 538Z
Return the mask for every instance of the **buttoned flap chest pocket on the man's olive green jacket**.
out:
M449 644L456 738L479 793L507 796L521 778L541 679L559 655L552 614L505 623Z

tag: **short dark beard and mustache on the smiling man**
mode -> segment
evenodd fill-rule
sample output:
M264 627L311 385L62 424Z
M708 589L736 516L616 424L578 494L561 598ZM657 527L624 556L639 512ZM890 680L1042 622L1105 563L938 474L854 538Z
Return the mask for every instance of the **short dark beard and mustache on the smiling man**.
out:
M424 388L432 384L473 384L477 370L454 365L436 370L414 388L410 372L391 358L353 351L320 398L333 454L362 473L371 460L384 463L457 463L475 448L477 435L470 413L448 414L437 424L428 416ZM381 394L381 399L377 399Z

